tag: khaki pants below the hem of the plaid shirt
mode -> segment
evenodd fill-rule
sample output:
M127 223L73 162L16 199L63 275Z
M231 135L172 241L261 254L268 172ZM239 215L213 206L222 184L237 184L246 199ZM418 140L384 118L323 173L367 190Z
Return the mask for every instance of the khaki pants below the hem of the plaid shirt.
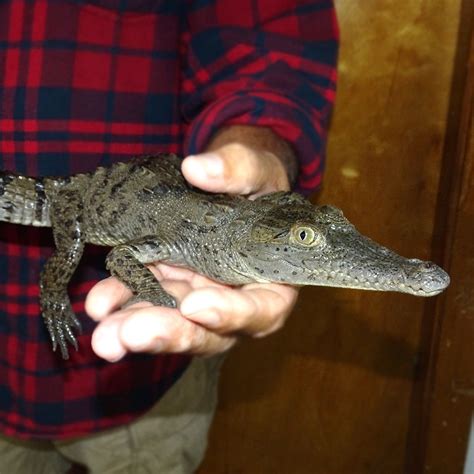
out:
M201 463L223 356L195 358L151 411L135 422L68 441L0 437L0 474L188 474Z

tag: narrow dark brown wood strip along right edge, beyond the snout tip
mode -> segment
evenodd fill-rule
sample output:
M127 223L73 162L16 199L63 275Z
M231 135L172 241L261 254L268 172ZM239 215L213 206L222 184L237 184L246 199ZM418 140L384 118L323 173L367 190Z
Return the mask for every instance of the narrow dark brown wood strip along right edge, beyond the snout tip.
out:
M474 415L474 4L470 1L463 4L459 38L450 107L452 139L446 142L443 165L449 182L442 187L446 189L440 194L437 222L448 230L440 251L453 284L437 305L421 400L421 449L411 466L413 472L435 474L463 472Z

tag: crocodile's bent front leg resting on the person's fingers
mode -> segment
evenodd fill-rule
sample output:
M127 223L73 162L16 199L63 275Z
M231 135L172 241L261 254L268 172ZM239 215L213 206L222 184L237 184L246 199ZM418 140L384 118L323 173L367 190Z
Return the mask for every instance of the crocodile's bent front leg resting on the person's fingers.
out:
M109 252L107 269L133 292L127 306L139 301L149 301L156 306L176 307L176 300L144 265L168 256L167 247L153 238L118 245Z

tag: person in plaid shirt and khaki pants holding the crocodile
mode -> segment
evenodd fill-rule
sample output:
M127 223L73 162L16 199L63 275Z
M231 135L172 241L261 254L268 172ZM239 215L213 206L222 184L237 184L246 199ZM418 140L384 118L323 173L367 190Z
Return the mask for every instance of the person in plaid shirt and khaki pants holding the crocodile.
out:
M174 152L206 191L310 194L337 48L331 0L0 2L0 165L69 175ZM38 304L53 247L49 229L0 224L0 471L193 472L221 354L280 328L297 290L157 263L178 308L121 309L129 291L89 246L70 285L83 334L64 361Z

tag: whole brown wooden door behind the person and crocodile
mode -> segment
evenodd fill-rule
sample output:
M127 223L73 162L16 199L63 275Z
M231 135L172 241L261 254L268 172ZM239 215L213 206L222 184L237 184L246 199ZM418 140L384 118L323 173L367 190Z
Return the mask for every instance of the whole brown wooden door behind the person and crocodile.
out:
M462 72L474 2L338 0L337 9L339 91L317 200L403 255L450 264L454 281L430 300L304 289L282 331L230 355L201 474L462 472L474 148L460 143L472 134Z

